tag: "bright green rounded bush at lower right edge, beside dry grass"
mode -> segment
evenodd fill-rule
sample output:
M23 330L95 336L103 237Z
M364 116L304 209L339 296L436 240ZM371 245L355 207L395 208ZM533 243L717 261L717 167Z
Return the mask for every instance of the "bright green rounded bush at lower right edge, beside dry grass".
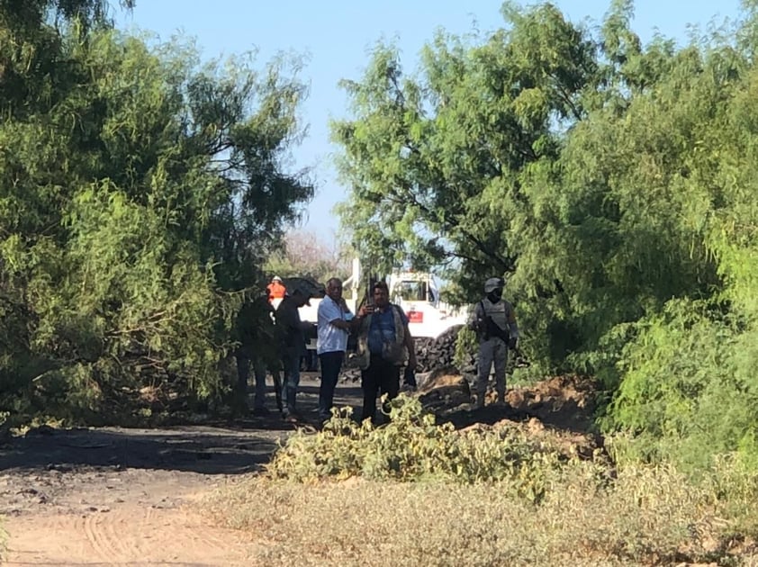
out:
M687 470L715 455L758 459L758 329L717 306L676 300L635 325L621 350L622 382L605 419L618 458L672 460Z

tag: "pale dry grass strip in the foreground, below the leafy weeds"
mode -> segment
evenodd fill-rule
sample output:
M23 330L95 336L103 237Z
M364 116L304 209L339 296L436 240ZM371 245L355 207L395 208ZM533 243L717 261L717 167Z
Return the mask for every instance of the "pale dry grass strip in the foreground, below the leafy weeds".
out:
M667 468L629 468L602 488L579 467L535 506L500 483L254 477L206 504L249 533L252 564L758 565L752 512L734 515L712 488Z

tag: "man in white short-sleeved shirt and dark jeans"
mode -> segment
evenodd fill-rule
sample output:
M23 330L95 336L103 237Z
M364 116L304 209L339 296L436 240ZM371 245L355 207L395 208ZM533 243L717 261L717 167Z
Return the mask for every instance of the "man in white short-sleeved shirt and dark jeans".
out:
M339 371L345 360L351 320L353 314L347 309L347 303L342 298L342 282L333 277L327 282L326 297L319 303L319 335L316 340L316 352L321 363L319 417L322 421L331 417L334 390L337 388Z

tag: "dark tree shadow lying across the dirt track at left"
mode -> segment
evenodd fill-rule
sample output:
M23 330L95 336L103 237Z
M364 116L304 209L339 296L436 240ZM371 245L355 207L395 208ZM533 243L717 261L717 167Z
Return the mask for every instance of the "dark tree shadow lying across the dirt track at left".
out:
M299 424L282 419L270 396L271 413L241 419L203 419L203 425L168 428L34 428L0 445L0 474L13 470L76 472L82 467L162 469L201 474L258 470L294 428L316 423L319 386L302 384ZM335 402L357 407L355 384L338 386Z

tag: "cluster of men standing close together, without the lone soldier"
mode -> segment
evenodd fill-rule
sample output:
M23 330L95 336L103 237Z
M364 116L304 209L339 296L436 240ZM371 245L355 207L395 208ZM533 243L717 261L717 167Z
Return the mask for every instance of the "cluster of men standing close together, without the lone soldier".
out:
M278 283L281 284L281 280ZM274 376L277 392L281 390L280 410L284 419L297 421L300 418L297 410L300 360L305 351L305 333L312 327L312 323L301 320L298 310L310 305L311 293L294 287L284 293L274 308L272 287L269 285L267 293L256 301L246 303L239 313L239 389L247 392L248 368L252 366L256 379L253 414L266 415L267 370ZM362 419L375 422L377 394L387 394L387 402L396 398L400 392L402 366L413 371L417 365L408 317L400 306L389 301L389 289L384 282L374 284L369 302L356 314L352 313L342 297L342 282L331 278L326 285L326 296L319 304L316 325L316 352L321 368L319 418L325 421L331 417L347 340L355 334L364 392ZM278 353L279 364L273 360L274 353ZM280 369L284 373L281 386L278 385Z

